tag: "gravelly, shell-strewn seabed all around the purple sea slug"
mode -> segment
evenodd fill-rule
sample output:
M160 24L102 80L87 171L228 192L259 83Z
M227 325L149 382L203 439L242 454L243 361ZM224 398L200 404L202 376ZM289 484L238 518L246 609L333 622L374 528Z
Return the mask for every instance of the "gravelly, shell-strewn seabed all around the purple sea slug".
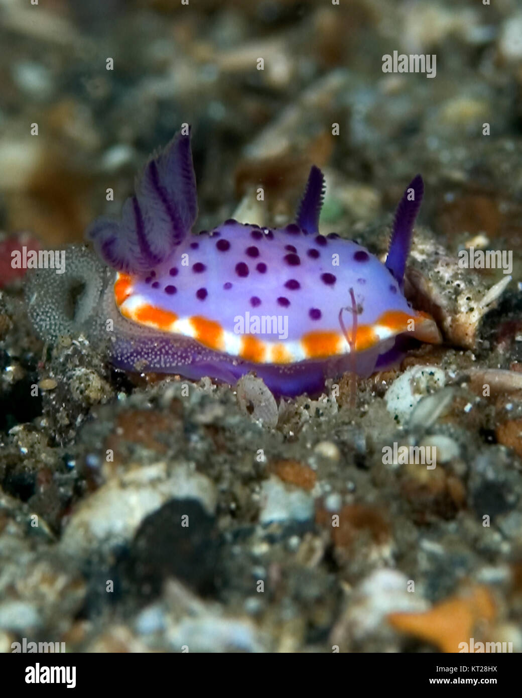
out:
M394 51L436 76L383 73ZM0 652L522 650L521 88L520 0L0 0ZM315 163L321 232L380 253L422 173L410 272L449 346L360 380L356 410L348 374L278 405L114 371L82 335L44 346L10 249L119 214L186 122L195 232L287 223ZM465 246L513 252L491 313L506 277L458 269ZM440 467L389 468L391 443Z

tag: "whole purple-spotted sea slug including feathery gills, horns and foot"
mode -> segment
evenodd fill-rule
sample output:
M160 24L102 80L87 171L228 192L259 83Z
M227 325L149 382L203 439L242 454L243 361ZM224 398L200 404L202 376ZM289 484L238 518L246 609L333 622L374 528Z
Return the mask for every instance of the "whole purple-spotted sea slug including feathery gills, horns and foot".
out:
M318 392L325 378L369 376L394 362L403 335L440 341L433 319L403 294L423 191L417 175L396 210L384 264L355 242L320 235L325 178L315 166L295 223L230 219L193 235L190 130L181 131L151 156L121 220L103 216L88 228L98 259L85 247L69 253L63 276L77 289L75 310L66 313L63 290L51 292L62 283L55 275L46 288L29 283L29 312L47 337L105 333L110 361L127 371L232 385L252 371L277 395Z

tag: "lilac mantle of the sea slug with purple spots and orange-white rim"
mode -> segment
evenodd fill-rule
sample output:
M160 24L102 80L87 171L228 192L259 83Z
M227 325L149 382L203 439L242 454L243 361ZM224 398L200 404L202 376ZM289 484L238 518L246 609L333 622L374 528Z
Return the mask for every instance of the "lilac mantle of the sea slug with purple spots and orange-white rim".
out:
M288 228L228 221L207 235L190 236L148 276L118 272L119 311L140 325L259 364L350 353L339 323L350 287L359 305L356 352L406 332L412 318L424 322L412 314L386 267L364 248ZM344 319L350 336L349 313Z

